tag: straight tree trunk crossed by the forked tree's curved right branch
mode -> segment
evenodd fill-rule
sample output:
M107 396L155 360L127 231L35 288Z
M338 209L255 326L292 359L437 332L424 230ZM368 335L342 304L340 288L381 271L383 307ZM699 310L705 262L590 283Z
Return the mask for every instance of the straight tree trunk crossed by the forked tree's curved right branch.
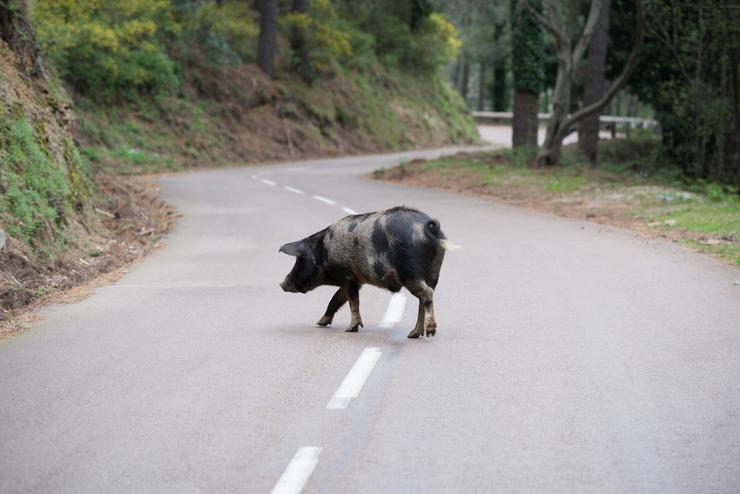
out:
M603 0L599 20L588 47L588 64L583 93L583 105L588 106L599 101L606 92L606 50L609 43L609 11L611 0ZM594 113L583 119L578 125L578 147L592 165L596 165L599 149L599 116Z

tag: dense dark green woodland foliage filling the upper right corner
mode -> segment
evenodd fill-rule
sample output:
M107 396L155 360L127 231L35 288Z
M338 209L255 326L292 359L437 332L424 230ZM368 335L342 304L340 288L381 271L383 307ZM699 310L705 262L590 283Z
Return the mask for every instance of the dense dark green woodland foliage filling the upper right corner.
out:
M610 36L619 46L630 34L631 2L615 1ZM647 35L630 91L655 110L665 156L685 177L740 186L737 9L732 2L669 0L646 8Z

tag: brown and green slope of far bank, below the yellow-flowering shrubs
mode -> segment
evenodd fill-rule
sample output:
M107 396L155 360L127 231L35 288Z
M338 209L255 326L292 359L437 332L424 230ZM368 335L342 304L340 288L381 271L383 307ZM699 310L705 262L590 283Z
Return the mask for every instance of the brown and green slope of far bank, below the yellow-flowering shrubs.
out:
M254 65L201 72L179 96L115 106L82 100L90 160L141 173L476 142L459 95L436 78L378 67L304 84Z

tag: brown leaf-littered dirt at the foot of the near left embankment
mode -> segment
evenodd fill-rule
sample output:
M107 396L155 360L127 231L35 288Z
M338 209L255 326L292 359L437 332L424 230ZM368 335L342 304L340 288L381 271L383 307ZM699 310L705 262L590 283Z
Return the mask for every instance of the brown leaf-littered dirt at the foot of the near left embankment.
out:
M96 183L94 228L69 232L75 243L54 259L33 256L8 239L0 253L0 338L22 329L29 309L77 301L115 280L122 268L160 248L179 216L144 179L100 175Z

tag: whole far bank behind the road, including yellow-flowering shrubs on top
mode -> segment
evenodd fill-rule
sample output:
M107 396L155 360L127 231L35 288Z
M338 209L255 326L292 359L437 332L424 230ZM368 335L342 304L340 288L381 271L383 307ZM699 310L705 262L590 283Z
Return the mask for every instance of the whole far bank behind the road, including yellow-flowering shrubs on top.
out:
M283 5L270 76L256 65L254 2L39 0L32 18L75 99L84 155L105 170L476 141L441 75L459 49L454 27L381 3Z

